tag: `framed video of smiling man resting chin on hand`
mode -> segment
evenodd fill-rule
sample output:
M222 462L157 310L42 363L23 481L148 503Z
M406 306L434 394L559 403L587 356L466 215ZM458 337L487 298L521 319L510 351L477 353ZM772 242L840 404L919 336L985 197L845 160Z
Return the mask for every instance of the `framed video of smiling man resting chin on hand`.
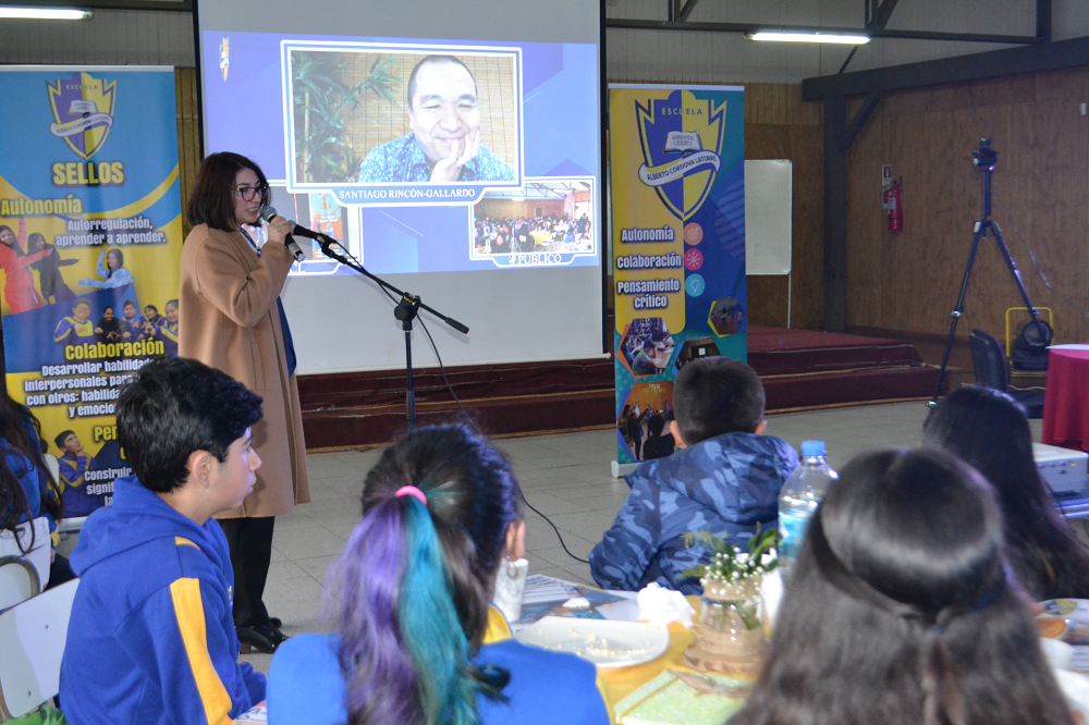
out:
M289 186L518 184L516 49L287 46L286 60L294 161Z

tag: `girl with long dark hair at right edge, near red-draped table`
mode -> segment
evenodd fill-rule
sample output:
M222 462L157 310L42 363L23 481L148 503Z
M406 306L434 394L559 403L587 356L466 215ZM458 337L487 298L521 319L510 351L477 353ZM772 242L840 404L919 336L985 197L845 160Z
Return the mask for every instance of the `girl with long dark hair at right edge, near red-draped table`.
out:
M1020 405L996 390L962 388L930 413L922 443L974 466L994 487L1006 557L1033 599L1089 598L1089 552L1040 478Z

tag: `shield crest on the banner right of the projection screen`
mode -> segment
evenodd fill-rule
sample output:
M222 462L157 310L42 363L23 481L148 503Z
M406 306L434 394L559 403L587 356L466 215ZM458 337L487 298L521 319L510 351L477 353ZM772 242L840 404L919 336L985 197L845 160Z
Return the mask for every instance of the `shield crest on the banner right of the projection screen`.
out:
M635 105L644 160L639 181L682 221L703 204L722 165L725 112L725 102L714 106L690 90Z

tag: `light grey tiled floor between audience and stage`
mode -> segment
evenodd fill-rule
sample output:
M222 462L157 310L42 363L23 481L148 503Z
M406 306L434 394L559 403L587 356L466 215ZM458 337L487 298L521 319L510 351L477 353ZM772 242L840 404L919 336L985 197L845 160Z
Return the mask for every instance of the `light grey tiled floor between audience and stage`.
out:
M804 440L823 440L829 463L841 468L861 451L917 445L926 417L922 403L770 415L767 434L779 435L795 447ZM1039 420L1032 421L1032 430L1039 440ZM586 558L627 495L624 481L610 474L616 455L615 431L507 439L497 445L514 463L529 505L555 524L573 554ZM326 574L359 520L363 477L380 454L377 450L348 451L307 457L314 501L277 519L265 591L270 614L283 619L284 634L327 629L322 619ZM531 574L592 583L589 566L563 551L544 519L527 511L526 524ZM63 549L74 543L70 539ZM267 672L271 658L250 654L244 659Z

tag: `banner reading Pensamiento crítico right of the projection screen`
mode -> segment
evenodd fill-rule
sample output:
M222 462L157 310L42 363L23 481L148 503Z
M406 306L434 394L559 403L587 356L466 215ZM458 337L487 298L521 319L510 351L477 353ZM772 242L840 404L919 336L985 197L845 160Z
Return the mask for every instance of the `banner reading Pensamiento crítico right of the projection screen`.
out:
M744 89L609 90L616 459L673 452L673 380L745 360Z

